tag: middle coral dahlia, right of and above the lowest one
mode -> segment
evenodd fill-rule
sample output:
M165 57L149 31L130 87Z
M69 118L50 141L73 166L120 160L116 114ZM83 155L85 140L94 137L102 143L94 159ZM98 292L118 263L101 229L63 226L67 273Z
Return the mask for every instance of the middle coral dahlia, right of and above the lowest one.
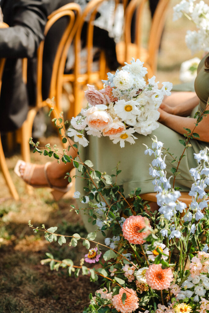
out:
M173 273L170 268L162 269L162 264L152 264L145 273L147 284L156 290L163 290L171 285Z

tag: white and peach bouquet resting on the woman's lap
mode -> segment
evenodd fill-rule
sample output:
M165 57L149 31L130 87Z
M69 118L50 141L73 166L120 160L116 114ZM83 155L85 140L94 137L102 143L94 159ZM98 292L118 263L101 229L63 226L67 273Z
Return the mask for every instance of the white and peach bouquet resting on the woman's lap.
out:
M163 82L158 88L155 76L148 79L146 85L144 76L147 69L139 59L125 62L125 66L115 74L108 73L108 80L103 80L104 88L96 90L87 85L85 91L88 106L81 114L71 120L72 128L68 136L74 136L74 141L82 146L88 146L85 133L92 136L108 136L114 144L125 141L135 143L134 133L148 135L159 124L160 107L164 95L170 95L172 84Z

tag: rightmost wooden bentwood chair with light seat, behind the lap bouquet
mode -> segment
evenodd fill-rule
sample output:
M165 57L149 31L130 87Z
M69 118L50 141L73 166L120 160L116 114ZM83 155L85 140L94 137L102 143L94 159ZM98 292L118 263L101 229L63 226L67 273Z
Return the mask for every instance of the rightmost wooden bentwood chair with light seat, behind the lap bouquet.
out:
M140 59L148 70L147 77L151 78L156 72L157 56L161 41L163 28L165 25L166 13L169 0L160 0L153 19L148 36L147 47L143 47L142 38L144 32L144 13L148 0L131 0L125 9L124 35L123 39L116 44L116 54L118 62L130 62L133 58ZM135 39L131 42L131 24L135 14ZM146 16L146 15L145 15Z

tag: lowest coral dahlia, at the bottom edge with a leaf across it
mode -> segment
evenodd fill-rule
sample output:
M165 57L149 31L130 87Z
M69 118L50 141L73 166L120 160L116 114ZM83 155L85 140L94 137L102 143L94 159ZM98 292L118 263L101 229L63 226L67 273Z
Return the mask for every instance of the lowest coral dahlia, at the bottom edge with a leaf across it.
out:
M125 304L123 304L121 299L123 293L126 293ZM128 287L126 287L125 290L120 288L119 294L114 295L112 298L113 306L121 313L130 313L135 311L139 307L138 301L139 299L136 296L135 290L129 289Z

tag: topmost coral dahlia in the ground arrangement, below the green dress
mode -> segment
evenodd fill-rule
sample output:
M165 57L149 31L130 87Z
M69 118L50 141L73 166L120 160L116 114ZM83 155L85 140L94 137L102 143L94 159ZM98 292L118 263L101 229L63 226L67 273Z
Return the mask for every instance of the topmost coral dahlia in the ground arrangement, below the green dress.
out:
M129 218L126 218L123 223L123 236L131 244L143 244L145 243L144 239L150 234L150 231L147 230L139 233L139 230L147 226L150 227L148 218L142 217L141 215L132 215Z

